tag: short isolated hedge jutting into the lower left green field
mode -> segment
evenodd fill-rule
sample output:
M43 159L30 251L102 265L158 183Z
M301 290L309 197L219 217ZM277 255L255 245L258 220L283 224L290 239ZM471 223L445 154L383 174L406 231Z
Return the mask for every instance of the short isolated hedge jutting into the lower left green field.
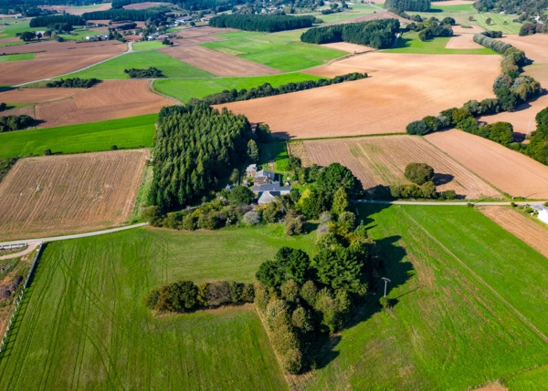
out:
M254 298L251 283L216 281L196 285L192 281L178 281L148 293L144 304L158 313L188 313L221 305L253 303Z

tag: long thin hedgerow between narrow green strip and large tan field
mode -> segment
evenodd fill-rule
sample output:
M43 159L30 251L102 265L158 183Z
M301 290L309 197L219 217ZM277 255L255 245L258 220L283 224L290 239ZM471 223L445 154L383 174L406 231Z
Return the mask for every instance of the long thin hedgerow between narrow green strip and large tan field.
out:
M255 98L272 97L275 95L289 94L290 92L302 91L316 87L331 86L332 84L342 83L344 81L360 80L367 77L366 73L353 72L342 76L336 76L332 79L321 78L319 80L305 80L294 83L283 84L279 87L272 87L270 83L249 89L242 88L239 91L234 88L231 91L224 90L216 94L207 95L202 99L193 98L191 105L206 103L208 105L220 105L228 102L237 102L240 100L249 100Z

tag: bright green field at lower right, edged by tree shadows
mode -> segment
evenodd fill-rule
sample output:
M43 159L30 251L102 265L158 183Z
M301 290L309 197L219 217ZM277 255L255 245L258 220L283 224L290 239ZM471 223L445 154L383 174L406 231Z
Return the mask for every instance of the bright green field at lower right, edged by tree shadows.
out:
M538 311L548 275L543 256L465 207L364 207L360 215L387 262L393 309L378 312L383 286L373 289L363 314L326 353L331 362L300 386L465 390L500 379L543 389L524 385L535 373L545 384L546 371L535 367L548 363L546 342L517 314L546 333Z

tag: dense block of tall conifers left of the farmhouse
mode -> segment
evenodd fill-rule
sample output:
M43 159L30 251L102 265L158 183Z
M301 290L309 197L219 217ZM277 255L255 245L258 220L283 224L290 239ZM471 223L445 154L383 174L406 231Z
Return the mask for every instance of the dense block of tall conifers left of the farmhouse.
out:
M248 118L226 108L167 107L158 121L149 201L162 211L195 201L246 159Z

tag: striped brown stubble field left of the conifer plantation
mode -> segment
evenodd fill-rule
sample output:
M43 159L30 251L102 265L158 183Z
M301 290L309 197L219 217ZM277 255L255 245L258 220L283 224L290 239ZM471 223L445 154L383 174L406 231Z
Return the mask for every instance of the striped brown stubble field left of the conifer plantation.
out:
M141 149L17 161L0 183L0 237L89 232L128 221L148 156Z

